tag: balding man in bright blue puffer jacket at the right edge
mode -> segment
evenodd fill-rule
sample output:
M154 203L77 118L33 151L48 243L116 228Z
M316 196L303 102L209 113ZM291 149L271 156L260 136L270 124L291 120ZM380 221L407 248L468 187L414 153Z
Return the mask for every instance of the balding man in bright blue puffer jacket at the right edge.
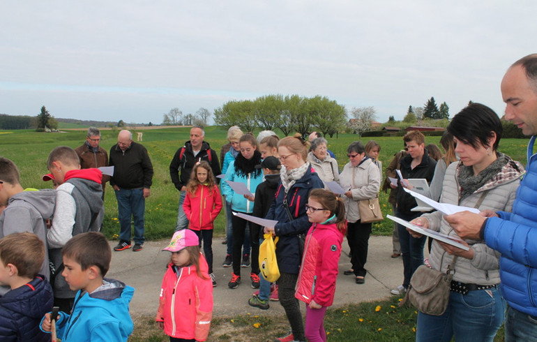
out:
M520 182L513 212L469 211L446 216L464 239L485 240L501 253L501 290L508 306L506 341L537 341L537 54L519 59L501 81L506 120L532 135L526 174Z

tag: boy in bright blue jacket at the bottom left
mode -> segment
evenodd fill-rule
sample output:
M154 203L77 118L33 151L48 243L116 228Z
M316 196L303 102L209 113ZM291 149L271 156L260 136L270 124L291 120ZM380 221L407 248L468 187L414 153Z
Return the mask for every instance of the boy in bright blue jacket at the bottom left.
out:
M112 251L100 232L86 232L70 239L62 250L66 278L71 290L78 290L73 313L61 311L56 322L58 339L68 341L127 341L133 332L128 304L134 288L121 281L103 278ZM50 332L50 313L41 329Z

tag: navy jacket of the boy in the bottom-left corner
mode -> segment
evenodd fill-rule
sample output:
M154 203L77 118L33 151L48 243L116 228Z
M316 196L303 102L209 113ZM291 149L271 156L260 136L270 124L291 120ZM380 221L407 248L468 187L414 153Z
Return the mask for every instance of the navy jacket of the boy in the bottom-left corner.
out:
M0 298L0 341L50 341L39 322L52 309L52 288L44 276Z

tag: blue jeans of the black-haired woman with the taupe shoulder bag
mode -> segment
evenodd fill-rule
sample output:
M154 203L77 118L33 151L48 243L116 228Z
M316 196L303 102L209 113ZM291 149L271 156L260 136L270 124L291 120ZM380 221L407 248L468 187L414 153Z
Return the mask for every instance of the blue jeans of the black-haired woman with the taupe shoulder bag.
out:
M494 341L504 322L506 302L498 288L451 292L444 315L418 312L416 341ZM522 340L519 340L522 341ZM525 340L529 341L529 340Z

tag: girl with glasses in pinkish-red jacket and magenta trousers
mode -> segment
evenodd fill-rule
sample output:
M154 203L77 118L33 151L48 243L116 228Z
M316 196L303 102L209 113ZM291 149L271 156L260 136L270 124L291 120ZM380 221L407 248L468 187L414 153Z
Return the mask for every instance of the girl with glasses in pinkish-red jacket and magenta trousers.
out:
M343 235L347 228L345 205L331 191L314 189L305 206L313 225L305 238L295 297L306 304L305 336L326 341L324 313L334 301L335 280Z

